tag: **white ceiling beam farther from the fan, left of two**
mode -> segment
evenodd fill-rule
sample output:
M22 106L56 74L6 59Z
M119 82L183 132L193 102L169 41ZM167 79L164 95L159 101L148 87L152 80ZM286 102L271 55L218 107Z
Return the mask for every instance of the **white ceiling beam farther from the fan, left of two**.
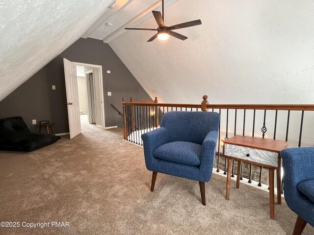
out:
M81 38L88 38L92 32L95 31L101 24L105 22L113 13L118 11L121 7L123 7L129 0L115 0L113 1L107 8L106 12L92 25L90 28L81 36ZM111 8L113 7L113 8Z

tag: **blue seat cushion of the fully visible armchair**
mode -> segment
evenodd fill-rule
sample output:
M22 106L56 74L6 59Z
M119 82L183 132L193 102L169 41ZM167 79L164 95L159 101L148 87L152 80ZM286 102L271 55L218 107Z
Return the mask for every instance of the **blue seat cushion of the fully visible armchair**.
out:
M200 165L202 145L186 141L174 141L162 144L153 152L153 156L169 162L185 165Z

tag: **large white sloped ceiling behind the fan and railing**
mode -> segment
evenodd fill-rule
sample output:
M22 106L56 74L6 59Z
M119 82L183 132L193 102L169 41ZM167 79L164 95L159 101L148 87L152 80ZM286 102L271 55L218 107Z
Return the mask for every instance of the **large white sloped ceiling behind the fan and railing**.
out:
M160 101L313 103L313 0L178 0L165 24L202 20L178 29L181 41L147 43L155 32L130 30L109 42ZM137 27L156 27L154 17Z

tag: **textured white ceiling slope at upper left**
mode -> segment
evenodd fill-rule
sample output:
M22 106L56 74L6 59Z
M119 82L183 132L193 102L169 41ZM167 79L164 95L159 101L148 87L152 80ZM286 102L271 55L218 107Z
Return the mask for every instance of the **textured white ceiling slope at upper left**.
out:
M0 100L74 43L112 0L0 0Z

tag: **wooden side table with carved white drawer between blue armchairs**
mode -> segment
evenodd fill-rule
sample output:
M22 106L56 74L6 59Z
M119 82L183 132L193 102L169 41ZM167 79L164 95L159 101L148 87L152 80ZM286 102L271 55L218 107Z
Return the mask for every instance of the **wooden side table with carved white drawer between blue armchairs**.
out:
M288 146L287 141L268 140L256 137L234 136L224 141L223 154L228 159L226 199L229 200L232 160L237 160L236 188L240 185L241 164L262 166L269 173L270 218L275 219L274 170L277 171L277 202L281 204L281 157L280 151Z

